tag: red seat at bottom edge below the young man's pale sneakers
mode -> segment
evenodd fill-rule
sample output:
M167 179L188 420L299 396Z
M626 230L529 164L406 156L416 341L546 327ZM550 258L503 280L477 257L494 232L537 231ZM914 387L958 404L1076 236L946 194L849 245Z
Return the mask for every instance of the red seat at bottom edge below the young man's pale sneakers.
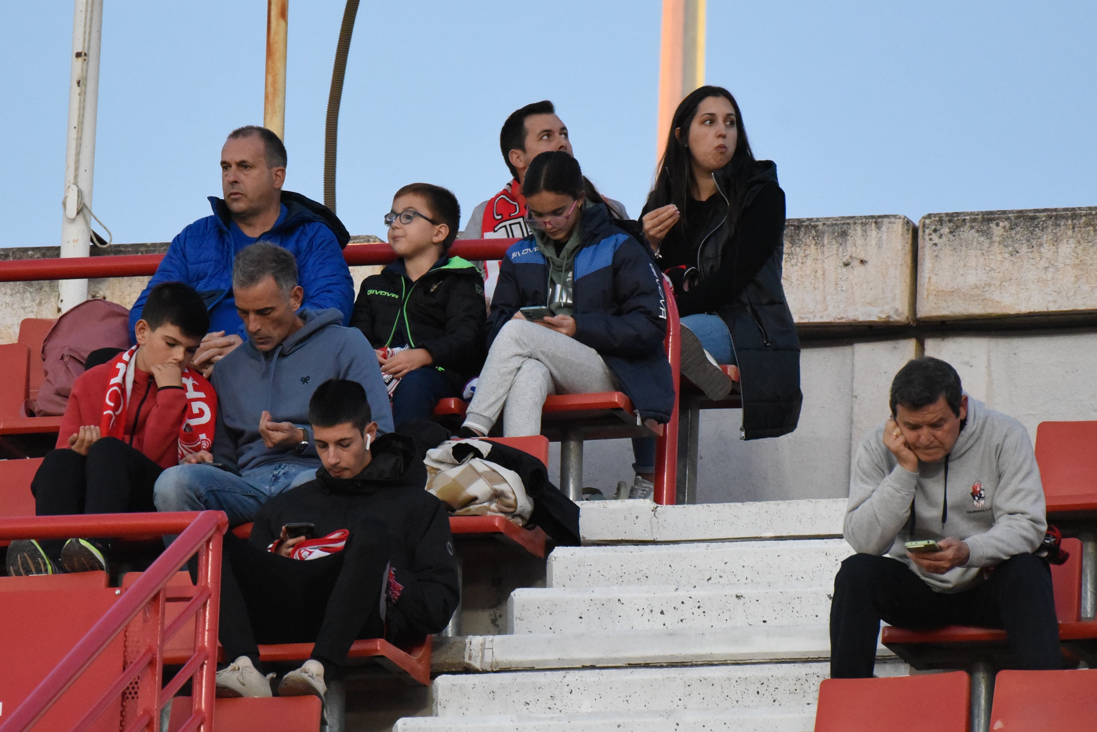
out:
M319 697L217 699L213 732L314 732L320 729L323 712ZM172 699L167 732L179 732L190 716L190 697Z

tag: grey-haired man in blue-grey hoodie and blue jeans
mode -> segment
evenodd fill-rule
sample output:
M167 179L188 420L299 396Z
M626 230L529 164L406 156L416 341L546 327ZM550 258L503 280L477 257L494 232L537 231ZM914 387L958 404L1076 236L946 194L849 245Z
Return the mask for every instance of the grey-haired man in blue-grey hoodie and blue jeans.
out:
M248 340L213 372L213 454L188 455L156 482L161 511L223 510L229 526L252 520L267 499L315 477L320 459L308 430L308 399L329 379L365 387L377 433L393 431L377 357L333 308L301 308L297 266L282 247L245 247L233 266L236 309Z

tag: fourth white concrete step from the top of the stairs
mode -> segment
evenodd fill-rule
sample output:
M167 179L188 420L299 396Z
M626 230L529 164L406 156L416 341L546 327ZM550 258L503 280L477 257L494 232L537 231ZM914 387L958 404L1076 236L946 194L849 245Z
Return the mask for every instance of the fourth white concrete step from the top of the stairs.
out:
M878 656L895 656L882 645ZM826 623L470 635L467 671L828 661Z

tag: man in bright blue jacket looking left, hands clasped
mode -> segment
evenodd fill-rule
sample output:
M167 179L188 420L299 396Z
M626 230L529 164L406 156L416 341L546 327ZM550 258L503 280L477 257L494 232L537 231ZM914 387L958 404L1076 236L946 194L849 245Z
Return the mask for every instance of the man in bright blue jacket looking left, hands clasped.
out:
M214 363L247 338L233 297L233 260L256 241L287 249L297 260L304 307L336 308L350 322L354 284L341 248L350 235L323 204L282 191L285 146L265 127L234 129L220 154L224 199L210 196L212 216L200 218L172 239L163 261L129 311L129 339L148 293L160 282L185 282L210 309L210 334L193 365L208 376Z

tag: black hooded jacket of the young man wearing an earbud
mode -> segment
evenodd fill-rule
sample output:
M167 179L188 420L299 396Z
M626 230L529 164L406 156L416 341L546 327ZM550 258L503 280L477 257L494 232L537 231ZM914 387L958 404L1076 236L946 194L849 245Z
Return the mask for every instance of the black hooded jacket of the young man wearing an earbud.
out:
M392 539L393 578L403 586L386 609L386 637L415 642L445 628L461 599L450 520L442 502L423 489L427 469L410 437L383 435L370 452L370 464L352 478L320 468L315 481L272 497L259 509L250 541L265 550L286 523L312 522L324 537L353 531L363 516L380 518Z

